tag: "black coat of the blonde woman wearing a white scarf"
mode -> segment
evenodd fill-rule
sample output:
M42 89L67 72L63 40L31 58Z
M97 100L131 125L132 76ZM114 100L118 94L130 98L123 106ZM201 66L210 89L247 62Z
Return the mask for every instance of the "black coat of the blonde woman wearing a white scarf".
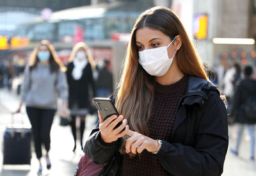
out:
M79 108L87 108L88 103L91 103L89 99L89 91L92 92L92 96L95 97L95 84L92 76L92 67L88 63L83 69L83 76L79 80L75 80L72 77L72 71L74 69L74 63L68 63L67 65L67 82L68 82L68 108L72 108L74 103L78 103ZM91 89L90 89L91 88Z

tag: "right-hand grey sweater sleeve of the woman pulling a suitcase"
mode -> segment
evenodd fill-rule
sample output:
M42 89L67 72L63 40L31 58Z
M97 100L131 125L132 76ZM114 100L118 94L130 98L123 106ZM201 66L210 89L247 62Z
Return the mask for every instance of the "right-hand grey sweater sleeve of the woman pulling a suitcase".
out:
M64 72L60 69L58 70L57 80L56 80L56 90L58 91L60 98L62 100L67 100L68 91L67 91L67 77Z

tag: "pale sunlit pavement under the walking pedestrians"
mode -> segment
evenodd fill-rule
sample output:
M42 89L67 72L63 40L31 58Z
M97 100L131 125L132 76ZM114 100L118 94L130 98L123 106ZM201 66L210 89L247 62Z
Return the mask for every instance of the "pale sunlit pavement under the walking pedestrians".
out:
M10 111L15 111L19 105L19 97L13 92L8 90L0 90L0 143L3 143L3 132L6 125L10 124L11 116ZM24 109L22 109L23 112ZM20 123L20 116L17 115L15 122ZM28 118L24 118L25 124L29 125ZM90 131L95 122L95 116L88 116L86 118L86 132L84 134L84 141L88 138ZM234 140L236 138L236 126L233 125L229 129L230 132L230 145L234 146ZM73 175L76 164L79 161L79 157L83 153L77 143L77 151L74 154L72 152L73 139L70 127L61 127L59 125L58 116L54 118L54 124L51 131L51 152L50 157L52 161L51 170L47 170L45 167L45 160L42 159L44 166L42 175ZM243 143L241 144L241 150L239 151L239 157L233 156L228 151L227 159L225 161L223 176L255 176L256 175L256 162L249 160L250 157L250 138L248 132L244 131ZM2 145L0 145L2 152ZM31 166L21 165L4 165L3 166L3 153L0 155L0 175L1 176L33 176L36 175L38 163L36 161L35 153L33 152L31 159ZM205 175L207 176L207 175Z

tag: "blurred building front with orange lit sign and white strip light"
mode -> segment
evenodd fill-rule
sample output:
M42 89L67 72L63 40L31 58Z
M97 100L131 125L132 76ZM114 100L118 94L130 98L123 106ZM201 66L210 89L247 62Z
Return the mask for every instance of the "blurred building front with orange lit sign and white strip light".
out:
M255 66L254 0L193 0L193 35L207 65L236 62Z

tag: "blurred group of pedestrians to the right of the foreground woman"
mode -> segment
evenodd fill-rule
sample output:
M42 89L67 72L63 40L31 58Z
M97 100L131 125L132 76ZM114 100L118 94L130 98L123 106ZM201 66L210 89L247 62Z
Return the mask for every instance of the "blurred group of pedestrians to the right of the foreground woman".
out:
M209 70L212 83L225 95L228 124L236 124L236 142L230 152L239 155L244 129L250 136L250 160L255 161L255 124L256 124L256 76L255 65L242 65L222 61L215 72Z

